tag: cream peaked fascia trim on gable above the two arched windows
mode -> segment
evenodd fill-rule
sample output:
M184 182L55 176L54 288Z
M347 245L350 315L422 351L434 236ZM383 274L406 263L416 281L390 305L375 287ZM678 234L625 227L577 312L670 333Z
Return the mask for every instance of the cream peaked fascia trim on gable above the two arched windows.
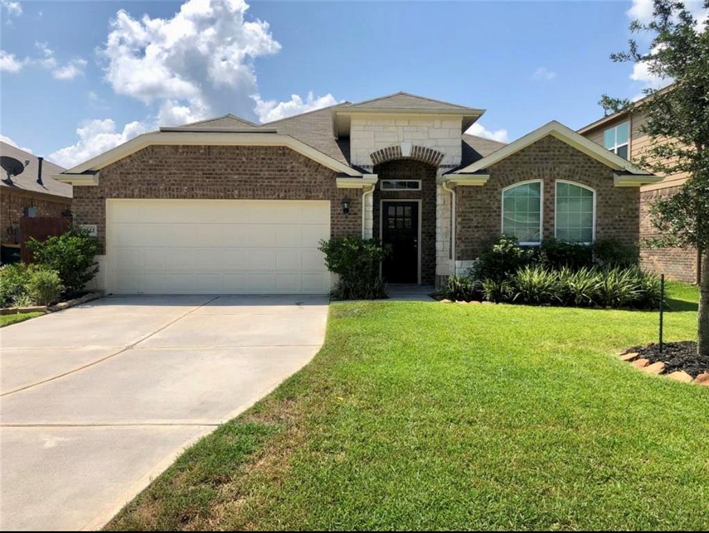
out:
M513 155L515 152L519 152L523 148L526 148L538 140L545 138L547 135L552 135L562 142L566 142L567 145L576 148L576 150L583 152L589 157L593 157L596 161L599 161L614 170L630 172L630 174L637 174L638 176L643 176L643 178L647 176L654 177L652 174L635 167L635 165L631 164L627 159L623 159L623 157L615 155L609 150L605 150L605 148L601 145L597 145L592 140L586 139L574 130L571 130L571 128L567 128L562 123L557 122L557 120L552 120L550 123L543 125L541 128L537 128L531 133L527 133L527 135L520 137L518 140L510 142L509 145L503 146L500 150L496 150L496 152L479 159L473 164L469 164L467 167L459 169L456 172L452 172L449 175L454 176L456 174L470 174L471 172L478 172L479 170L488 169L493 164L501 162L506 157Z

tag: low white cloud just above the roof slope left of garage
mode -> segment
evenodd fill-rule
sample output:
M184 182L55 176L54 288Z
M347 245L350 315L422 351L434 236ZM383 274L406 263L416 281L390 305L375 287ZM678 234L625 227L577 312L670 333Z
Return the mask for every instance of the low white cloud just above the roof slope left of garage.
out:
M52 152L48 158L62 167L71 168L145 133L146 130L145 125L137 120L126 124L122 132L116 131L116 123L111 118L86 120L77 128L77 143Z

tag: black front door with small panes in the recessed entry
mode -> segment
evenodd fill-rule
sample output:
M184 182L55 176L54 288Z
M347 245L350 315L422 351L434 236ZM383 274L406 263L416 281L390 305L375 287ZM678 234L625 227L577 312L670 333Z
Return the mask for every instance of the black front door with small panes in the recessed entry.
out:
M389 283L418 283L418 203L384 201L381 241L391 245L382 274Z

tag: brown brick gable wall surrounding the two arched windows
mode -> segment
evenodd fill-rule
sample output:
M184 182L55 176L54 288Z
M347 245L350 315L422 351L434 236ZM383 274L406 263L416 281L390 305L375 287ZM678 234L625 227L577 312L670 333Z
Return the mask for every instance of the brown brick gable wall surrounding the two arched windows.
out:
M543 238L554 237L554 184L564 179L596 189L597 239L637 242L640 191L615 187L613 170L548 136L491 167L484 186L457 187L457 259L474 259L501 234L502 189L532 179L544 182Z

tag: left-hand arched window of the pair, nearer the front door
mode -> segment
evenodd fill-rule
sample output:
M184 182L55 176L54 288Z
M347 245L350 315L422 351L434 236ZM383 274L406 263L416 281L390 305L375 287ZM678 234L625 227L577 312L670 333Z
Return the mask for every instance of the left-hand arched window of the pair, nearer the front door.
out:
M520 245L542 241L542 182L524 181L502 191L502 232Z

